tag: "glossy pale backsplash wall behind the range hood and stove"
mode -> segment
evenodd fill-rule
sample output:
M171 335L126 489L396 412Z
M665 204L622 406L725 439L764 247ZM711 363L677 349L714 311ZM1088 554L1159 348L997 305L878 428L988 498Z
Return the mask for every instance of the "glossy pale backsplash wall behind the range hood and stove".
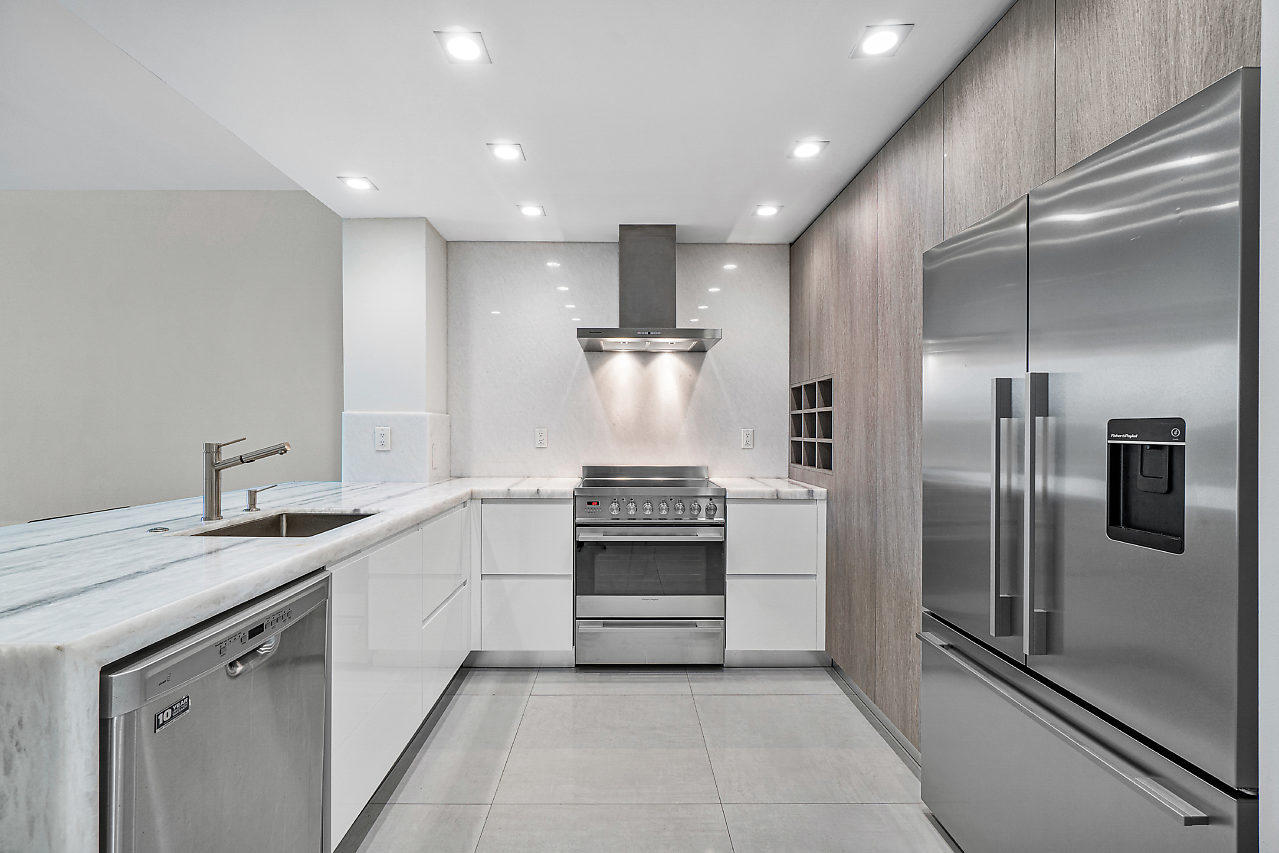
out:
M784 477L788 247L680 244L677 266L680 325L723 327L720 344L586 354L577 326L618 324L616 243L449 243L453 473L669 463ZM535 427L550 430L549 448L533 448ZM742 427L755 450L739 449Z

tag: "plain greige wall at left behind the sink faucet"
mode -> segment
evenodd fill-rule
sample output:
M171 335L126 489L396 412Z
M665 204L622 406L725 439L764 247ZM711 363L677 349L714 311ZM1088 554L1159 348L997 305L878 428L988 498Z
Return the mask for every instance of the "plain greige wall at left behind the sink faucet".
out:
M0 192L0 523L336 480L341 223L304 192ZM225 506L237 508L239 495Z

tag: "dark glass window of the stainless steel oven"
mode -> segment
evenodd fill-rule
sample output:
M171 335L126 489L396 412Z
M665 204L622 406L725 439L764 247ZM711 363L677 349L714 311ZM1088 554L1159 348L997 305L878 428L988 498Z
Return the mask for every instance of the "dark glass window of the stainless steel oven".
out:
M724 542L578 542L579 596L724 595Z

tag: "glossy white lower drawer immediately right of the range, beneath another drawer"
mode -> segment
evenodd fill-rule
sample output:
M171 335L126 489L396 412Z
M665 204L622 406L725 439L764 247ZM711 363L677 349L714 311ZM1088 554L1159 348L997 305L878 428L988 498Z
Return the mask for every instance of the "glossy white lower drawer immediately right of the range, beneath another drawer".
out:
M730 574L724 618L730 650L824 648L817 637L817 578Z

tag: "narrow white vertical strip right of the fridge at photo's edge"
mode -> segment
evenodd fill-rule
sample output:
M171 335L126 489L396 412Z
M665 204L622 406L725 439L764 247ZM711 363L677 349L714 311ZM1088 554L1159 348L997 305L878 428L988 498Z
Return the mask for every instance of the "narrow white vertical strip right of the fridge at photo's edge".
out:
M1279 853L1279 0L1261 0L1259 723L1261 850Z

